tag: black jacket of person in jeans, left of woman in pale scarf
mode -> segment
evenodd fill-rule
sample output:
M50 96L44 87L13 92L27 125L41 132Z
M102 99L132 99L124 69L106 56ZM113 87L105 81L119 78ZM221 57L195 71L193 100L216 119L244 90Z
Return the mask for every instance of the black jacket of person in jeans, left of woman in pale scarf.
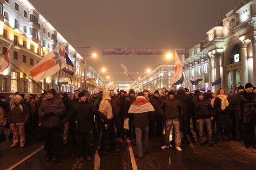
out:
M214 116L213 108L211 103L206 101L200 101L199 99L195 102L195 119L209 119Z

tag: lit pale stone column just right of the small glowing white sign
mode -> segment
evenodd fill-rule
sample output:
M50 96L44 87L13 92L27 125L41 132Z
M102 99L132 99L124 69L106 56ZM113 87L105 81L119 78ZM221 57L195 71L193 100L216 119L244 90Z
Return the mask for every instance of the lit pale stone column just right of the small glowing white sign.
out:
M241 44L241 85L248 82L248 65L247 65L247 43L243 41ZM254 45L253 45L254 46Z

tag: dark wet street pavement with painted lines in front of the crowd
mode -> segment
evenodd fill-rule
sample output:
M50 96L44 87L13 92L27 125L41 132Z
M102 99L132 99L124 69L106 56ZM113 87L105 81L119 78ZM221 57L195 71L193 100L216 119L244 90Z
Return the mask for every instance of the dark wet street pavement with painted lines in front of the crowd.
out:
M75 149L71 144L61 145L60 160L57 163L44 161L43 143L36 137L27 139L24 148L12 148L12 140L7 139L0 144L0 170L10 167L13 170L255 170L256 149L246 149L241 142L217 143L213 146L198 145L191 139L190 144L183 144L182 151L173 148L162 150L163 137L148 141L148 152L144 157L136 155L135 139L131 140L131 150L128 141L118 144L120 153L110 153L102 156L100 151L94 151L92 161L78 162ZM35 151L38 148L40 151ZM131 152L132 151L132 152ZM34 154L34 155L31 155ZM135 162L133 162L133 155ZM28 158L26 159L26 157ZM30 157L29 157L30 156ZM18 164L17 164L18 163ZM17 166L16 166L16 165ZM13 166L14 165L14 166ZM10 170L10 169L9 169Z

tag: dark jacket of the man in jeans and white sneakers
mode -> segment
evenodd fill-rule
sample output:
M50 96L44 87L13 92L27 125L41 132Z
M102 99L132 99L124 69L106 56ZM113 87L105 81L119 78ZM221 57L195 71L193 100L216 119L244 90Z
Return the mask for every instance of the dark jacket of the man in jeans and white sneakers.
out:
M179 119L179 115L183 116L183 108L177 99L167 99L160 105L164 110L165 119Z

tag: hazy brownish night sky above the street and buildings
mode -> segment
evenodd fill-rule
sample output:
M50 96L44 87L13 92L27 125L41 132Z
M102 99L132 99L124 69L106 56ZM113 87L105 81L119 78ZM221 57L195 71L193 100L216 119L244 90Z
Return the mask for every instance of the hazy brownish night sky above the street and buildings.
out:
M243 0L29 0L96 70L144 72L164 56L101 56L101 48L191 48ZM107 76L105 74L104 76ZM134 76L134 75L133 75ZM139 76L134 76L135 80ZM143 76L140 76L143 77ZM113 75L110 78L130 80Z

